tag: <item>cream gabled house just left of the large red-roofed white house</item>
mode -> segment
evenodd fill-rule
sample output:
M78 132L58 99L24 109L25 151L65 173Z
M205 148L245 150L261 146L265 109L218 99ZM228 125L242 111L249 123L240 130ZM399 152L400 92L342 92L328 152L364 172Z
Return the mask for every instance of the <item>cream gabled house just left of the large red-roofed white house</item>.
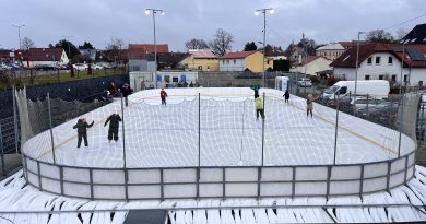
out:
M322 56L308 56L301 58L289 71L316 75L319 71L331 70L331 60Z

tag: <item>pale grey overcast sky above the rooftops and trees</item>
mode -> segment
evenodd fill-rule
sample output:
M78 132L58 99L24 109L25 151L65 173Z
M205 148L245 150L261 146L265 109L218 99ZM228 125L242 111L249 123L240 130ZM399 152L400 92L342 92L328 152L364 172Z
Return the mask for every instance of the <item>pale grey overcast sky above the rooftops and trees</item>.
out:
M191 38L211 40L217 28L235 37L233 50L247 42L261 42L263 17L256 9L273 8L267 16L267 43L286 48L301 34L317 44L357 38L358 31L384 28L426 13L425 0L0 0L0 48L17 48L21 37L37 47L72 35L75 45L90 42L104 48L114 38L153 43L152 15L146 8L162 9L156 16L156 39L173 51L185 51ZM410 31L426 16L388 30Z

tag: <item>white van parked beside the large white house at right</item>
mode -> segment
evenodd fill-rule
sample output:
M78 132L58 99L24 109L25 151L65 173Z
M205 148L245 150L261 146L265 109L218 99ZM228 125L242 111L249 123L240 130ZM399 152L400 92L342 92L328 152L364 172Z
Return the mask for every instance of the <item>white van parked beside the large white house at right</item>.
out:
M356 95L369 95L376 98L387 98L390 86L386 80L362 80L356 84ZM339 97L355 95L355 81L339 81L331 87L327 89L321 97L324 99L333 99Z

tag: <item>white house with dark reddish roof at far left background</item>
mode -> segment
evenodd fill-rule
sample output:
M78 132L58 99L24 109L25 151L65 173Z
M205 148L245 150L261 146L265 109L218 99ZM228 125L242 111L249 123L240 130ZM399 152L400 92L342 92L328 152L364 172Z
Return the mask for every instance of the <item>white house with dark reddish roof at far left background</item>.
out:
M63 48L29 48L27 52L23 52L22 58L24 67L36 67L38 64L67 64L68 56Z

